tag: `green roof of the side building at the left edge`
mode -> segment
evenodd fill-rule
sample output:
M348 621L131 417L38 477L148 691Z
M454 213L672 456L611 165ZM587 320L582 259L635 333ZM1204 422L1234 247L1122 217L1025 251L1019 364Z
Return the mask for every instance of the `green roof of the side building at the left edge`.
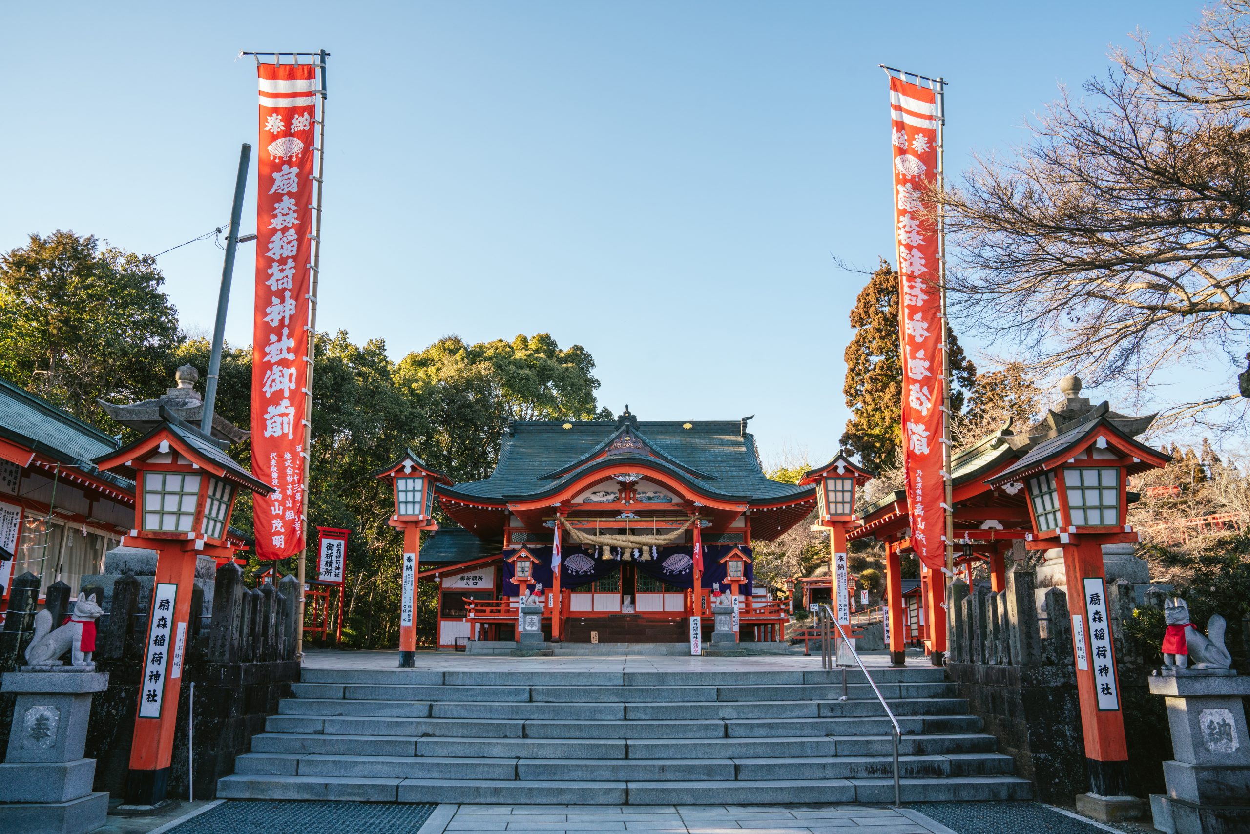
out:
M118 449L112 436L6 379L0 379L0 436L96 476L101 473L91 460ZM118 486L134 489L125 478L102 476Z

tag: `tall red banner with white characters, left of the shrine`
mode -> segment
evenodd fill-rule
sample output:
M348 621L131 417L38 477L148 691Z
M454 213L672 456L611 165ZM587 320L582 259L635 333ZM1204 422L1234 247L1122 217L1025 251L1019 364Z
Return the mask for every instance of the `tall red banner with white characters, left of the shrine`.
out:
M309 258L316 68L260 64L256 309L251 471L274 491L252 501L256 558L304 550L304 408L309 379Z

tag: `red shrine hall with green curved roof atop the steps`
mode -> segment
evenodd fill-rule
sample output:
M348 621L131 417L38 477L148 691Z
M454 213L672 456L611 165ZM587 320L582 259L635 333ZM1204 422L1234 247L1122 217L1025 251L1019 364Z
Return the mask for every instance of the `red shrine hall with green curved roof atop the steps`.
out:
M459 525L420 553L418 576L439 583L442 646L511 639L522 585L541 585L550 638L680 641L686 618L710 624L714 585L735 580L740 639L780 639L788 615L752 593L751 544L816 505L812 486L765 476L745 419L642 421L628 408L615 423L512 423L490 478L435 495Z

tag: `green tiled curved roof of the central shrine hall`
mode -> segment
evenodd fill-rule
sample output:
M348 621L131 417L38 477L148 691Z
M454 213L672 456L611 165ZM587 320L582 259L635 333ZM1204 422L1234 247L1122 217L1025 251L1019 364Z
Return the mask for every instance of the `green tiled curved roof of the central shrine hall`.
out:
M632 450L615 460L635 460L680 473L684 480L708 494L744 498L752 501L785 500L809 495L811 486L795 486L769 480L760 466L755 438L742 430L740 420L684 423L640 420L622 424L606 420L519 421L512 423L504 438L499 464L490 478L439 491L464 498L502 500L552 491L570 476L584 471L589 464L578 465L584 458L602 448L624 429L636 433L662 456L648 458L644 450ZM569 466L575 468L568 471Z

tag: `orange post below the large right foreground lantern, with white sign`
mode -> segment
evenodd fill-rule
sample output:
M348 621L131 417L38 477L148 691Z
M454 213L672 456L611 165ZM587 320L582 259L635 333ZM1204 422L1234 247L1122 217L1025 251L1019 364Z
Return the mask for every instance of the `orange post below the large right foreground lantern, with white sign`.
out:
M1129 794L1129 750L1124 736L1120 679L1109 619L1102 545L1088 539L1064 545L1068 611L1072 618L1076 690L1090 791Z

